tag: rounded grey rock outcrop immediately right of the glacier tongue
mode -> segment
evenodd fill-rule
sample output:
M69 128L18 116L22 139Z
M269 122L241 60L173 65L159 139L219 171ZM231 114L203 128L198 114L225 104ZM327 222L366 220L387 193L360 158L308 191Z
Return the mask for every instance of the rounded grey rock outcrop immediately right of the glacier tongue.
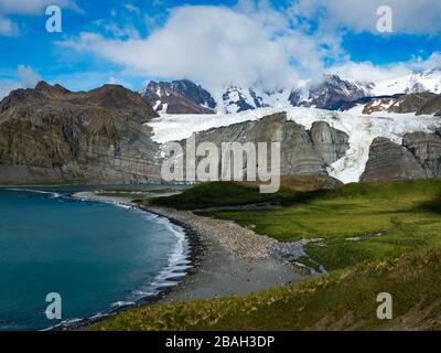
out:
M426 179L424 168L407 148L376 138L361 181Z

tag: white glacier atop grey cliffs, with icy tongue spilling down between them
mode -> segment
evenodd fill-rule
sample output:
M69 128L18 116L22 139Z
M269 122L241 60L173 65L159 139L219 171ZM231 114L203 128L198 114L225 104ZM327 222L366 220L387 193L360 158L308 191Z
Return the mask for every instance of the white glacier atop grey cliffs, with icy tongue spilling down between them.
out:
M431 132L441 127L441 118L415 114L362 114L363 106L348 111L330 111L306 107L259 108L225 115L161 115L148 122L153 128L152 139L159 143L190 138L194 132L225 127L244 121L255 121L268 115L287 111L288 119L310 129L314 121L326 121L331 127L349 136L351 148L346 156L329 169L331 176L344 183L358 182L369 158L369 148L377 137L401 145L409 132Z

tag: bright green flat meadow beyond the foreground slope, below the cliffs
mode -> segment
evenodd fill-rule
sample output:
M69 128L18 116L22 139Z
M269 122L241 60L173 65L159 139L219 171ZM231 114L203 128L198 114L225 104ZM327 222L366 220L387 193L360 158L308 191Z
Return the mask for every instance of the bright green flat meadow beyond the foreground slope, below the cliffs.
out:
M251 226L281 242L314 239L306 253L327 270L395 258L441 242L441 181L359 183L332 190L260 194L236 183L207 183L153 203L192 210L279 201L279 210L220 211L211 216Z

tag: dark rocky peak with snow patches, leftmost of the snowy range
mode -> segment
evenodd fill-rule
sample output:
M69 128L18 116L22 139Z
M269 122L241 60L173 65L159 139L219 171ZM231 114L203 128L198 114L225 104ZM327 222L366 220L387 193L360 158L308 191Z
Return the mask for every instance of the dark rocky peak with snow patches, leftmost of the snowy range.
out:
M140 95L157 111L168 114L213 114L216 107L208 92L187 79L150 82Z

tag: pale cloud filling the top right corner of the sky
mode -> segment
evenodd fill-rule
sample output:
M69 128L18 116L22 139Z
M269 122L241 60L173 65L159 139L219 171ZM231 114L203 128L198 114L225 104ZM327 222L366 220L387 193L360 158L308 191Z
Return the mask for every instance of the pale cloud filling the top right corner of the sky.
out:
M439 0L293 0L290 13L306 23L309 19L319 21L324 31L347 28L378 33L377 9L381 6L392 10L395 33L435 34L441 30Z

